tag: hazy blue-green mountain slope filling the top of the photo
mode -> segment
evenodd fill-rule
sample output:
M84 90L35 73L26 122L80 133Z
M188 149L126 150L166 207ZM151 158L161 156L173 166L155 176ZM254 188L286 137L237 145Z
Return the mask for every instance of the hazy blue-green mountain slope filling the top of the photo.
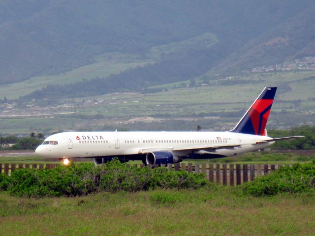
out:
M100 80L92 82L94 88L83 83L62 92L135 91L314 55L314 15L312 0L3 0L0 91L26 95L95 77ZM113 52L133 60L123 61L122 70L111 61L99 69L95 58ZM147 64L151 60L156 63ZM109 74L116 75L108 79ZM82 94L82 88L90 93ZM60 89L42 93L59 96Z

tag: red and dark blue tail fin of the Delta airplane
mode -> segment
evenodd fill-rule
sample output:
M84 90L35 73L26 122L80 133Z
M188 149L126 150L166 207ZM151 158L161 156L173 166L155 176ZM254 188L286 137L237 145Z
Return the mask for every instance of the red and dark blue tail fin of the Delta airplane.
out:
M266 87L230 132L264 135L277 87Z

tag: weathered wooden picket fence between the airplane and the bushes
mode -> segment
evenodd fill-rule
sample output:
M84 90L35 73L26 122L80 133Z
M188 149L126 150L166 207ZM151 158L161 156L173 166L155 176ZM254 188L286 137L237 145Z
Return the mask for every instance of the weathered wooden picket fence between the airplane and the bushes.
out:
M59 164L8 164L0 163L0 173L9 175L16 169L32 168L32 169L52 169ZM130 164L126 164L130 167ZM134 164L133 166L143 168L144 165ZM165 165L160 165L164 166ZM168 164L168 170L184 170L193 173L203 173L210 182L223 185L239 185L244 182L252 181L255 177L263 176L271 171L277 170L282 165L256 165L256 164L197 164L197 163L176 163ZM151 166L150 166L151 167ZM158 165L155 166L155 168Z

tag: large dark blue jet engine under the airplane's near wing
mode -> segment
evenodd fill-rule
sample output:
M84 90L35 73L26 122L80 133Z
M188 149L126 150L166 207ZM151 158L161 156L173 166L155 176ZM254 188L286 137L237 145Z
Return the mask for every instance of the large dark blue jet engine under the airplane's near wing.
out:
M174 156L173 153L168 151L153 151L146 154L146 164L172 164L181 162L182 158Z

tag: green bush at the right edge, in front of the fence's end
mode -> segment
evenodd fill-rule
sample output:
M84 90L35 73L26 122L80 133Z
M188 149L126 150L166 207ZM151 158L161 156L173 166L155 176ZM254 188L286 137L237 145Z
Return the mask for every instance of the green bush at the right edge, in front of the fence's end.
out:
M271 196L281 192L301 193L314 192L315 161L307 164L295 163L285 166L252 182L241 186L245 194L252 196Z

